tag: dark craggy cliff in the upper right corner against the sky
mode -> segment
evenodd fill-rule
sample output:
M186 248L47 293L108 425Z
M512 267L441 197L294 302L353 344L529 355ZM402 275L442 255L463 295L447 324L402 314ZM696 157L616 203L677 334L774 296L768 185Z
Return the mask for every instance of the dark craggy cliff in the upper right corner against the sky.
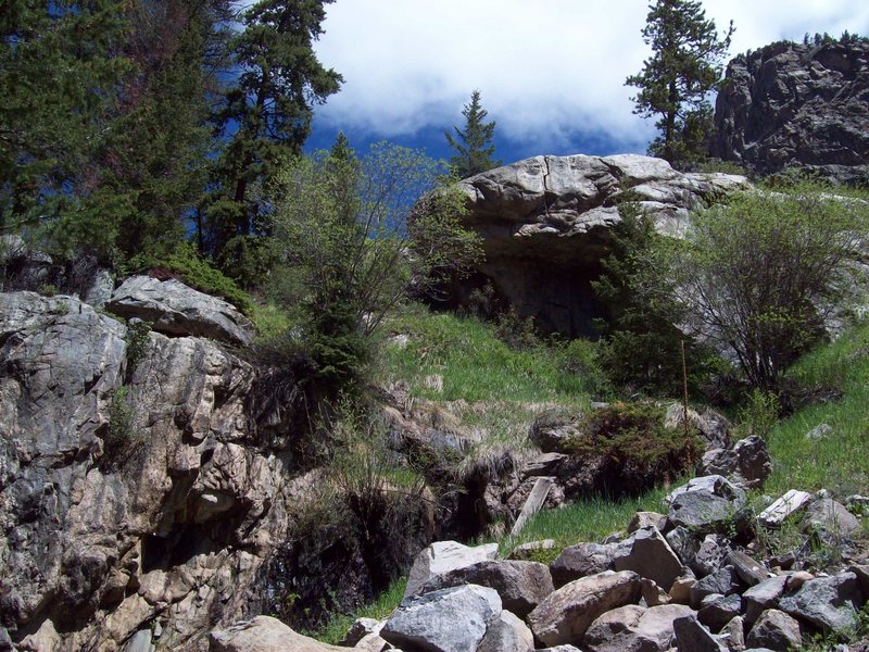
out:
M760 174L869 178L869 43L779 42L730 62L711 154Z

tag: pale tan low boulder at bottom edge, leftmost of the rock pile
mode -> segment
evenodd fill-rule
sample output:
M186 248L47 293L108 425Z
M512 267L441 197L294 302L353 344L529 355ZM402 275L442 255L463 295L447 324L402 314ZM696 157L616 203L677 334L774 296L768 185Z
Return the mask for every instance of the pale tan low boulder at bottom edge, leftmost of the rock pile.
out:
M290 627L270 616L256 616L209 635L210 652L347 652L347 648L327 645L297 634Z

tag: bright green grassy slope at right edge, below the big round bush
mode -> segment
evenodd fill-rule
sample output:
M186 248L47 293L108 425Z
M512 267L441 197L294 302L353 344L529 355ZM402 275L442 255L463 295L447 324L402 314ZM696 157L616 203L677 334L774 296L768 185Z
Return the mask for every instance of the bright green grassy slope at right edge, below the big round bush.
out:
M780 422L769 434L773 473L769 494L788 489L826 488L839 498L869 490L869 324L805 355L792 369L794 380L813 387L832 386L841 400L809 405ZM806 432L820 424L833 431L821 440Z

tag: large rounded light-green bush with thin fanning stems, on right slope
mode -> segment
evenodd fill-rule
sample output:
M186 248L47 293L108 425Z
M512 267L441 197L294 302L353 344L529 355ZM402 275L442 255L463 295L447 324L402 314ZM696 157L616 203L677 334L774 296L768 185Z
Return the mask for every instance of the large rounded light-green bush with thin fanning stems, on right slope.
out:
M695 336L729 350L753 387L776 391L855 293L849 265L868 223L869 204L817 187L735 195L692 215L684 240L657 240L644 280L678 301Z

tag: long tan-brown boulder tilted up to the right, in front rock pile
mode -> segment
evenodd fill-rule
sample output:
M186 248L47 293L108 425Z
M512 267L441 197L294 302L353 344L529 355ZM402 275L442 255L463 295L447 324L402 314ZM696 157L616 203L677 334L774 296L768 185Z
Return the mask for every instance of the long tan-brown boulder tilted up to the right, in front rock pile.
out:
M640 599L635 573L607 570L574 580L555 590L527 618L534 637L546 645L579 644L600 615Z

